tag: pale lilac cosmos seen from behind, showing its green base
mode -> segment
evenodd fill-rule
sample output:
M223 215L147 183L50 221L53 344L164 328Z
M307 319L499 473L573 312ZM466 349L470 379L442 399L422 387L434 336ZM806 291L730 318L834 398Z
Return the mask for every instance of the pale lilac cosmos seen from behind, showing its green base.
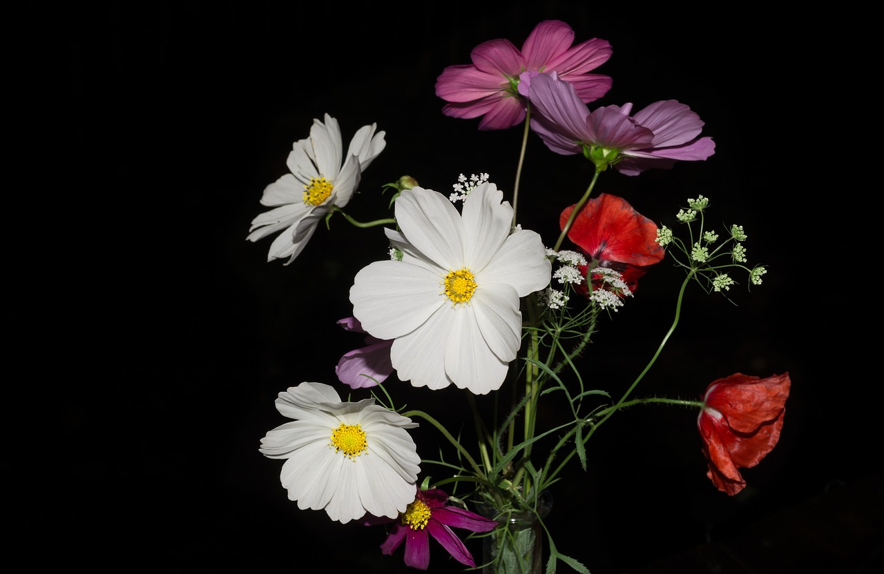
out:
M630 116L632 104L590 111L580 95L555 73L523 74L519 84L537 114L531 129L557 154L586 155L628 176L677 161L705 160L715 153L710 137L699 137L703 120L675 100L652 103Z

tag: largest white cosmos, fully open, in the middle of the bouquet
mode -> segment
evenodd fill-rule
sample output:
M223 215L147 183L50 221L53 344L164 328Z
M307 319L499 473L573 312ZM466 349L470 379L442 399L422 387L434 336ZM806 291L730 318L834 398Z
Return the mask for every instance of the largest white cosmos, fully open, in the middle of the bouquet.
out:
M519 298L544 289L551 264L534 231L510 233L513 208L494 184L476 186L463 214L415 187L396 200L401 232L386 229L402 261L375 261L350 289L371 336L392 339L402 381L477 395L497 390L519 351Z

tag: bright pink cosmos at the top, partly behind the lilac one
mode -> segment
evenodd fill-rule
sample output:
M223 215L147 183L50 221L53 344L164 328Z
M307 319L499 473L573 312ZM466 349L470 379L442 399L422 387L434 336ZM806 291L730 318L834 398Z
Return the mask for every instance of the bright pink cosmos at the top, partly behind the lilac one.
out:
M505 130L525 119L517 86L522 72L557 72L582 102L594 102L611 89L609 76L589 73L611 57L611 44L593 38L573 48L574 30L560 20L535 26L522 50L504 39L483 42L470 53L472 64L448 66L436 80L436 95L448 102L451 117L484 116L480 130Z

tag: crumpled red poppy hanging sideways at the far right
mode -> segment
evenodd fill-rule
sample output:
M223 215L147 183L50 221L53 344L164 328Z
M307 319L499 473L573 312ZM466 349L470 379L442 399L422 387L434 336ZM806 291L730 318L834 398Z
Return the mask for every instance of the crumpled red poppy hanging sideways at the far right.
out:
M721 492L743 490L738 469L758 464L780 440L790 385L789 373L766 379L736 373L706 389L697 428L709 461L706 476Z

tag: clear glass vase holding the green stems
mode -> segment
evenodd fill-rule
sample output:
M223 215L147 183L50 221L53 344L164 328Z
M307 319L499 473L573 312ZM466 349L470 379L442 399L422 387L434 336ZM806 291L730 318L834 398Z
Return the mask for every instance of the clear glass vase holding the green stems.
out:
M545 532L538 516L543 519L552 510L552 495L541 493L536 513L503 513L490 505L477 510L500 523L483 539L484 574L543 574Z

